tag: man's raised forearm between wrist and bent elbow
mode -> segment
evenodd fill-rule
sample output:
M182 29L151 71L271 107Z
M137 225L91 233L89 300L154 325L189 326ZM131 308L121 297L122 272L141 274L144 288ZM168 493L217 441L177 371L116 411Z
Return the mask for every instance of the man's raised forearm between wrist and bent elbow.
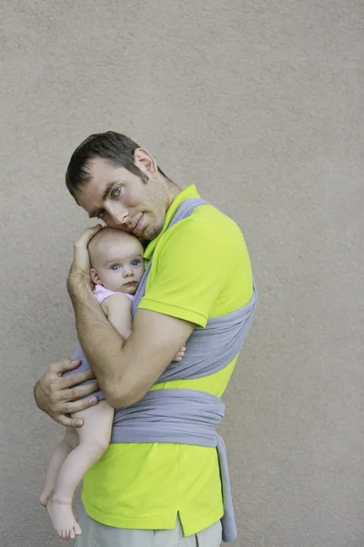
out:
M111 404L113 387L119 383L123 373L125 340L107 321L88 286L79 286L77 292L71 294L71 301L76 315L79 342L106 401Z

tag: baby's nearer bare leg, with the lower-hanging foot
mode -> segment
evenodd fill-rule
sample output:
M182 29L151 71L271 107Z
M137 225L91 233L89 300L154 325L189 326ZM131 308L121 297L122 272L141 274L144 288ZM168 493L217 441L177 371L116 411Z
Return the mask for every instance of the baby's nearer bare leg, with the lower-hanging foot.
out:
M59 469L55 490L46 505L56 532L64 540L72 540L81 533L72 511L72 499L86 471L101 458L109 445L114 408L109 407L106 401L100 401L96 407L77 412L73 418L84 421L82 428L76 429L79 444Z

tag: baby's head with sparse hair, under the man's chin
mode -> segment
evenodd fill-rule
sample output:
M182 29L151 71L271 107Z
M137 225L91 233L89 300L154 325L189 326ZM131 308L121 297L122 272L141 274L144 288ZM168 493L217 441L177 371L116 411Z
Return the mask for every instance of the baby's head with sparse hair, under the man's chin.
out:
M91 279L110 291L136 294L144 274L143 246L131 233L103 228L88 243Z

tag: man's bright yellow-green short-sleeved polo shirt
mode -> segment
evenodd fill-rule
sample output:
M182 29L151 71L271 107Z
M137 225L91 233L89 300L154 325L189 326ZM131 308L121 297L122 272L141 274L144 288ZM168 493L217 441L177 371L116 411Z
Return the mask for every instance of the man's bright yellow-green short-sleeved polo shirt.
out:
M153 254L153 263L139 307L204 327L209 317L248 304L253 280L238 225L211 205L197 207L166 231L177 207L190 197L198 197L194 185L177 195L162 232L147 246L145 258ZM197 389L221 397L236 361L207 377L152 389ZM185 535L199 532L223 514L217 450L169 443L110 444L86 473L82 499L89 516L108 526L173 529L179 513Z

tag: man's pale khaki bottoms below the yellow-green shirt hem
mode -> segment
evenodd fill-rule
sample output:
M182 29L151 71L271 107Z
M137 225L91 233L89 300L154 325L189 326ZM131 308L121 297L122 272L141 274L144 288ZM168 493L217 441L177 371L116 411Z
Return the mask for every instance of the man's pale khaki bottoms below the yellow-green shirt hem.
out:
M76 547L219 547L221 543L220 521L187 537L179 517L174 530L131 530L96 522L82 508L78 522L82 533L76 538Z

